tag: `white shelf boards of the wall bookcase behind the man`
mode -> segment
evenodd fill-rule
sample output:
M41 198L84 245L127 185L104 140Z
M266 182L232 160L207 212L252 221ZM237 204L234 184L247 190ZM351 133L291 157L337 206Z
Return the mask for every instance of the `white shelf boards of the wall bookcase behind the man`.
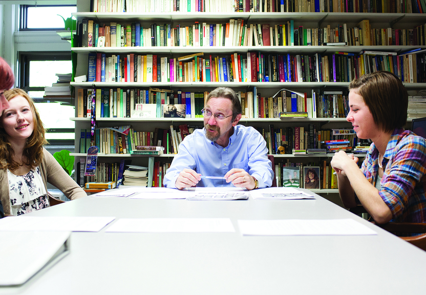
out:
M293 20L295 26L304 26L306 28L323 28L327 25L338 26L343 23L348 27L355 27L361 20L369 19L371 28L394 28L394 29L413 29L416 26L426 24L426 14L419 13L339 13L339 12L166 12L166 13L127 13L127 12L88 12L90 11L89 3L82 0L77 1L77 13L73 15L77 18L78 23L82 19L91 19L99 24L109 25L111 22L115 23L132 23L141 22L144 27L150 24L171 24L173 26L193 25L195 21L199 23L209 24L223 24L229 22L229 19L243 19L246 24L265 24L270 25L284 24L289 20ZM336 51L349 52L359 54L362 50L370 51L386 51L401 53L412 49L421 48L426 49L426 46L407 45L407 46L155 46L155 47L73 47L78 56L77 61L77 74L87 75L88 72L88 55L89 53L105 53L111 54L157 54L168 58L184 56L203 52L204 55L227 55L238 53L246 55L250 52L262 52L265 54L306 54L314 55L315 53L321 55L334 54ZM286 88L293 91L306 92L308 97L311 96L312 90L321 92L324 90L339 91L347 89L349 82L72 82L72 86L79 89L90 89L92 85L96 88L124 88L124 89L147 89L149 87L171 89L181 89L182 91L210 91L216 87L226 86L231 87L235 91L247 92L256 87L262 96L268 97L276 93L276 91ZM426 89L426 83L404 83L408 90L421 90ZM76 99L77 101L77 99ZM76 130L80 128L88 128L90 126L90 118L72 118L76 123ZM131 124L135 130L138 131L153 131L156 127L167 129L170 125L177 126L182 123L202 125L202 118L97 118L97 127L105 128L117 125ZM409 119L408 124L411 122ZM305 129L308 124L315 124L316 129L339 129L350 128L351 124L345 118L242 118L241 124L253 126L256 128L268 129L270 124L274 128L296 127L304 126ZM409 125L406 126L407 128ZM78 133L78 132L77 132ZM76 151L78 151L79 137L76 134ZM84 153L74 153L77 159L85 157ZM301 162L308 164L311 162L321 163L322 161L330 161L331 154L321 155L273 155L275 164L278 162ZM164 154L156 156L156 161L173 160L173 154ZM142 155L120 155L108 154L99 155L99 161L112 162L114 160L125 158L134 159L135 163L146 163L146 156ZM315 191L320 194L334 194L337 189L321 189Z

